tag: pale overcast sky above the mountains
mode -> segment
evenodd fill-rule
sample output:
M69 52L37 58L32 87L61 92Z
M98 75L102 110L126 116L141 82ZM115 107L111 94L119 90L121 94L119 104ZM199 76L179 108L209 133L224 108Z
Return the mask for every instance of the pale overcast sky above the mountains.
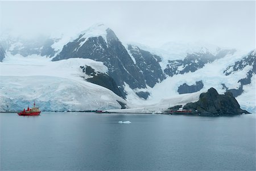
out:
M255 1L0 2L1 32L80 32L95 23L121 41L159 47L168 41L255 48Z

